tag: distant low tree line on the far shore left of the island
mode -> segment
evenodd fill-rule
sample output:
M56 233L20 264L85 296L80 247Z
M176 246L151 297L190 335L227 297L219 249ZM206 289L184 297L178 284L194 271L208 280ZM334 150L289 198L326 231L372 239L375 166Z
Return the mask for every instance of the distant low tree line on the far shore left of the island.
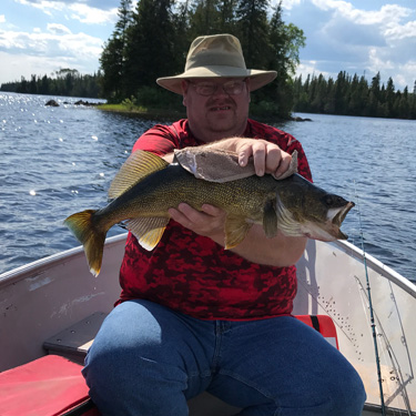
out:
M19 92L41 95L88 97L101 98L99 71L93 75L82 75L74 69L61 69L53 77L31 75L30 80L24 77L20 81L2 83L0 91Z

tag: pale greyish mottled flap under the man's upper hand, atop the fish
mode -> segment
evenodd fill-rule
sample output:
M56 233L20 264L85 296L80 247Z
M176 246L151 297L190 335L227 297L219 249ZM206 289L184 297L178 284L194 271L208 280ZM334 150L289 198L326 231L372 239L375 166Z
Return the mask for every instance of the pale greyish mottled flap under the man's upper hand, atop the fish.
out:
M239 163L239 154L232 151L209 146L184 148L175 150L175 161L197 179L209 182L231 182L255 174L253 158L245 166ZM292 154L288 170L276 180L285 179L297 172L297 151Z

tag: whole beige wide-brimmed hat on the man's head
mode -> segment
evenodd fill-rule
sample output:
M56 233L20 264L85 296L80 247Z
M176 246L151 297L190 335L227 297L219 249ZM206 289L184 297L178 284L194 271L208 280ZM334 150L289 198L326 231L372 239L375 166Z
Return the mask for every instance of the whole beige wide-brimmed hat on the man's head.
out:
M250 91L272 82L276 71L248 70L237 38L232 34L213 34L196 38L186 57L185 71L175 77L156 80L158 84L182 94L182 80L190 78L250 78Z

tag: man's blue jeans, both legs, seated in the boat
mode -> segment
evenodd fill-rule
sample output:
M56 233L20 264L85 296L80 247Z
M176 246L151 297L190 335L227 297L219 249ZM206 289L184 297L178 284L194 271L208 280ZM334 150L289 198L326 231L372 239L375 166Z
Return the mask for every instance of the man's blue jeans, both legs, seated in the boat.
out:
M365 400L344 356L294 317L201 321L148 301L111 312L83 375L109 416L185 416L204 390L244 416L358 416Z

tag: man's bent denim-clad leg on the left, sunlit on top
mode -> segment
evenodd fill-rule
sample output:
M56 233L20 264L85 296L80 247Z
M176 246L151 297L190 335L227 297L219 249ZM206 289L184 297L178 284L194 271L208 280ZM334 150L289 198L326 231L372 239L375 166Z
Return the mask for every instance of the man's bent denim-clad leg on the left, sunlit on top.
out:
M161 342L155 315L139 304L122 304L95 336L82 374L102 415L187 414L187 375L175 349Z

